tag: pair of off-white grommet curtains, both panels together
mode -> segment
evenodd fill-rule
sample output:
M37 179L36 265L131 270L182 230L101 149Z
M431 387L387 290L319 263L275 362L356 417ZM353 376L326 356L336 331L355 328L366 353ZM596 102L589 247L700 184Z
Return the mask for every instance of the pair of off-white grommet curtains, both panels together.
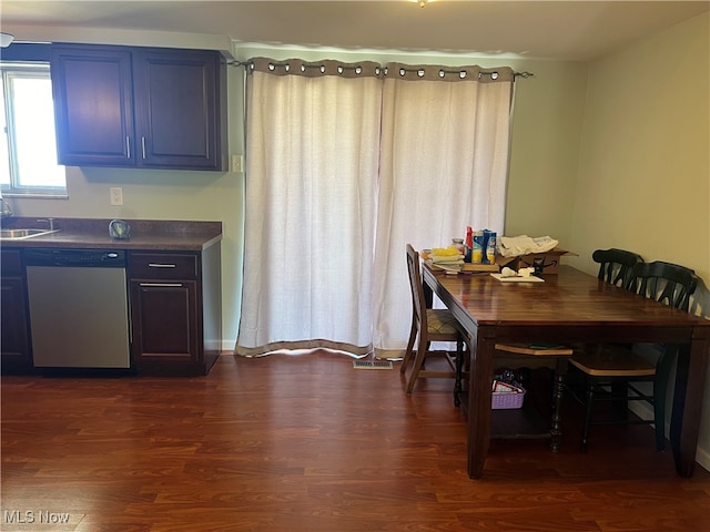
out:
M507 68L252 60L236 352L403 349L406 243L503 231L511 88Z

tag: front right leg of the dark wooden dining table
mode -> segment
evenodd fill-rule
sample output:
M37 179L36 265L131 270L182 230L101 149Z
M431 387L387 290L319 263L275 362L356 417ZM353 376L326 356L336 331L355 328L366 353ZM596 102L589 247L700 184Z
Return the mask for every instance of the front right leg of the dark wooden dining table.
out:
M708 335L706 330L702 330L702 334ZM676 470L681 477L691 477L696 466L702 390L709 356L710 338L700 337L694 337L690 346L681 346L678 352L670 422L670 446L673 451Z

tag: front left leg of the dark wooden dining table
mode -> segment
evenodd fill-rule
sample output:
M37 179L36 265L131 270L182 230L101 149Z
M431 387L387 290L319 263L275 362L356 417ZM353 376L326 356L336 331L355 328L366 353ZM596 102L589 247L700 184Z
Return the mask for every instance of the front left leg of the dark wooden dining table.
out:
M490 401L493 354L496 341L481 338L480 330L470 341L468 372L468 477L479 479L490 444Z

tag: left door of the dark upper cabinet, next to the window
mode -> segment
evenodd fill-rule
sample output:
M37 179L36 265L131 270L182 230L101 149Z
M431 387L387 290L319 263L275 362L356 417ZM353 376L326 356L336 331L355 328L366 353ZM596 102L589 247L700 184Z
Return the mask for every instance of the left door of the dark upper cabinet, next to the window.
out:
M59 162L134 166L131 54L111 47L52 47Z

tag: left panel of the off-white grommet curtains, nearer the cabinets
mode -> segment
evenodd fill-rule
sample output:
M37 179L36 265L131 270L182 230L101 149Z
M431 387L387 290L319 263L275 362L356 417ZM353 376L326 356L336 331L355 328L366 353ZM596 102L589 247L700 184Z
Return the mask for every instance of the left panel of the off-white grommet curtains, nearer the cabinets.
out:
M252 61L236 351L372 349L378 65Z

